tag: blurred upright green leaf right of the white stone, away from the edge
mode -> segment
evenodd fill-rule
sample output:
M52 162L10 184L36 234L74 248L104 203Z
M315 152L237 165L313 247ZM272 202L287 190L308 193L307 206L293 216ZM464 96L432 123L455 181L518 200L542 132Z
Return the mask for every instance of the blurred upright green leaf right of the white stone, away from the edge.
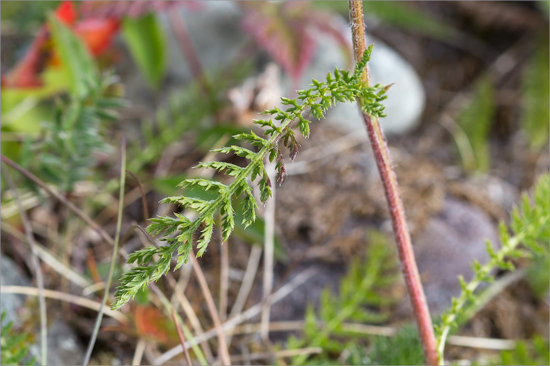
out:
M489 169L491 157L489 155L488 135L495 113L494 87L488 78L481 79L472 96L472 102L463 108L458 118L458 125L464 131L470 142L474 154L474 162L464 159L463 166L466 173L474 171L485 172Z

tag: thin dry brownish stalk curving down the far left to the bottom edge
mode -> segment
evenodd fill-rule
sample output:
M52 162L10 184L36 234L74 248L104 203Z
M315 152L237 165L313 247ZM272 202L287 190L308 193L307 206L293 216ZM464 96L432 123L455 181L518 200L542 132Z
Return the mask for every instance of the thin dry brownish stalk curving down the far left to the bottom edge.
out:
M38 303L40 304L40 359L43 365L47 364L47 354L48 354L48 324L47 324L47 315L46 315L46 298L44 296L44 278L42 276L42 269L40 268L40 262L38 261L38 254L36 249L36 241L34 235L32 234L31 223L27 213L21 204L21 199L19 198L19 193L17 192L17 186L12 179L12 175L9 173L8 169L5 169L2 165L2 171L5 181L8 183L10 190L13 191L13 197L17 203L19 209L19 214L21 215L21 222L25 228L25 235L27 236L27 242L31 247L31 260L32 267L34 267L34 272L36 275L36 284L38 286Z

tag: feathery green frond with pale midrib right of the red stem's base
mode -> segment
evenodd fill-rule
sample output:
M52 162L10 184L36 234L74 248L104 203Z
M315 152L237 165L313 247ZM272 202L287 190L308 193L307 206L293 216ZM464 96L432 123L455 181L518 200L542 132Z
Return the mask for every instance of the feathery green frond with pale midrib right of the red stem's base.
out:
M457 298L453 298L452 306L444 312L441 323L436 325L437 351L440 359L443 359L445 341L450 330L458 326L457 320L465 308L476 301L474 291L481 282L491 282L491 271L495 268L513 270L514 265L508 258L523 257L548 257L550 249L550 176L542 175L533 190L532 202L524 194L519 207L514 208L511 215L510 230L513 236L508 234L508 228L500 223L501 246L495 251L491 242L487 241L489 260L481 265L477 260L472 263L474 278L467 282L459 276L461 292ZM522 248L518 248L519 245Z

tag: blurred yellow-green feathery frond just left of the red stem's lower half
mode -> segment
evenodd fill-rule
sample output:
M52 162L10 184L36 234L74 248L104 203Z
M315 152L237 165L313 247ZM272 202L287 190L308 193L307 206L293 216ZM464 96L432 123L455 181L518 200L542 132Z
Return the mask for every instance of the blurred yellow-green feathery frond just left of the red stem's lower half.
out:
M347 343L332 339L334 335L350 336L342 329L344 321L361 323L380 323L387 319L382 311L369 310L367 307L380 307L392 302L383 298L380 290L394 285L399 279L399 262L395 251L386 236L371 231L368 238L366 260L361 263L355 260L348 274L340 280L340 293L334 296L329 289L321 293L318 315L310 306L306 310L304 338L289 337L288 348L322 347L323 352L312 359L310 364L322 364L329 358L328 353L341 353ZM320 324L320 321L322 325ZM422 356L422 351L420 351ZM307 356L296 356L293 365L306 362ZM332 360L334 362L334 360ZM330 364L330 363L328 363Z

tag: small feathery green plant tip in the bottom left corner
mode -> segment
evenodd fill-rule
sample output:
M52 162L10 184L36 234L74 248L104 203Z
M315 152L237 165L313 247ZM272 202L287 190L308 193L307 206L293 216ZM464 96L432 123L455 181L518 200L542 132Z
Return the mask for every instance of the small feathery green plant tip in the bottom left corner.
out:
M0 314L0 364L34 365L35 358L29 357L30 334L14 332L13 322L5 323L5 311Z

